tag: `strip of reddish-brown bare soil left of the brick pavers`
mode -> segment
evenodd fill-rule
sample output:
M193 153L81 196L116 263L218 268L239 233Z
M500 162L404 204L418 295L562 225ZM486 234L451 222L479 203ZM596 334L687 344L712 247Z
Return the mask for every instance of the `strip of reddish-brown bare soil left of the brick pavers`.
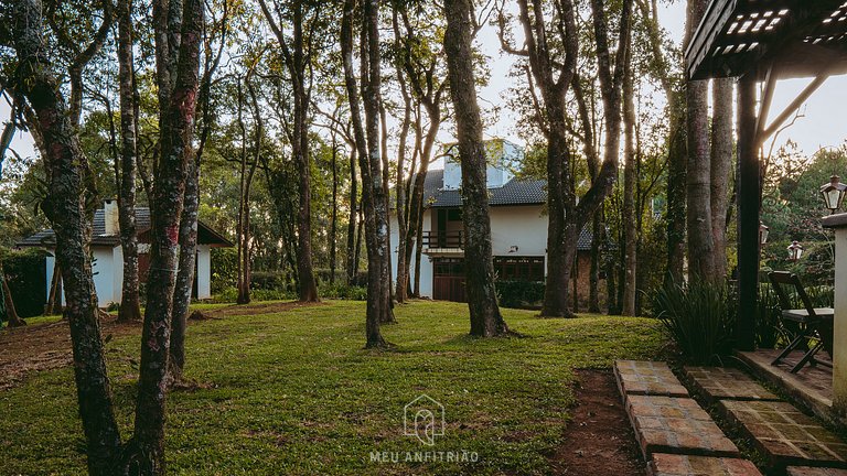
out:
M645 463L610 370L577 370L577 407L553 456L555 475L643 476Z

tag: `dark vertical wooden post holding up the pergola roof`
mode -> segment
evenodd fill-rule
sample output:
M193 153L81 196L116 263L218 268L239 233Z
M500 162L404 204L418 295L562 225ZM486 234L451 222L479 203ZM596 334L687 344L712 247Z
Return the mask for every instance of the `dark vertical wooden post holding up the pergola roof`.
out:
M759 302L759 141L755 69L738 83L738 317L736 348L755 349Z

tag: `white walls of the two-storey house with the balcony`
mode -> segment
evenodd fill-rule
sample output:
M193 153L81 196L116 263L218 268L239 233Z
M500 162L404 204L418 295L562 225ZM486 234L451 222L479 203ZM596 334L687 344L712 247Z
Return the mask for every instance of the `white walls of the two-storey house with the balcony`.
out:
M432 229L433 210L424 212L424 231ZM489 208L493 256L545 257L547 263L548 217L542 205L497 206ZM397 277L397 217L392 214L392 277ZM510 252L513 246L517 250ZM414 257L414 255L412 255ZM414 259L412 259L414 261ZM414 263L410 275L415 274ZM546 273L546 268L545 268ZM432 298L432 260L424 255L420 259L420 295Z

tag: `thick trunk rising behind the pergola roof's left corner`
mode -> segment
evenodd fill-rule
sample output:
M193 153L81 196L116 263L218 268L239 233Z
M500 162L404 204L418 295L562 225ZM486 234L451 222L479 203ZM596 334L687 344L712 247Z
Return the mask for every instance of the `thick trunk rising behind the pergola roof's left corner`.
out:
M699 24L706 8L705 0L688 1L686 44ZM714 242L711 236L711 165L709 163L708 82L688 82L686 104L688 111L686 163L686 205L688 228L688 273L712 280L715 278Z

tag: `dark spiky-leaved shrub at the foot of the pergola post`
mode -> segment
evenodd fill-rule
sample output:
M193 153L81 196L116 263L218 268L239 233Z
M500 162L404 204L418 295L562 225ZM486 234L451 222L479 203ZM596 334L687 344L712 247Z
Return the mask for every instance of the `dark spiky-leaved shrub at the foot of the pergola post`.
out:
M731 350L735 306L723 284L696 279L665 284L656 293L654 309L689 363L709 365Z

